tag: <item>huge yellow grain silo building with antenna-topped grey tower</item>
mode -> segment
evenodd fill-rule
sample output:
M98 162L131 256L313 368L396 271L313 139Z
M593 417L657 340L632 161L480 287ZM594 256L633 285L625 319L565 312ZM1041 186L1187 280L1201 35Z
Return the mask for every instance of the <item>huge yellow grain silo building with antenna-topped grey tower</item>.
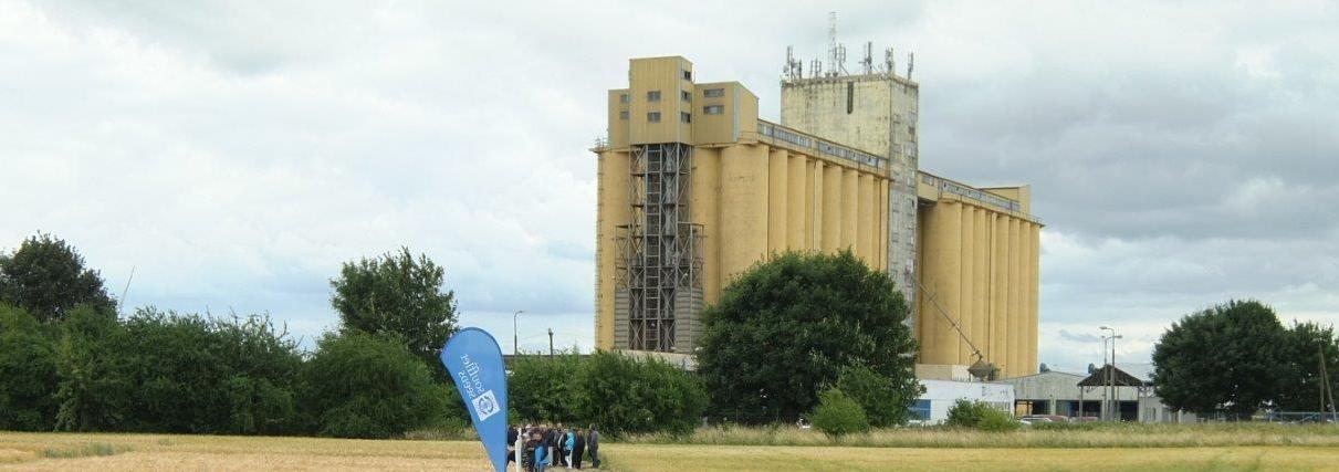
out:
M889 53L890 57L890 53ZM596 144L596 345L691 353L700 313L771 253L852 250L913 308L919 364L1036 372L1030 189L919 171L919 86L866 52L862 74L805 78L787 57L782 119L684 57L632 59Z

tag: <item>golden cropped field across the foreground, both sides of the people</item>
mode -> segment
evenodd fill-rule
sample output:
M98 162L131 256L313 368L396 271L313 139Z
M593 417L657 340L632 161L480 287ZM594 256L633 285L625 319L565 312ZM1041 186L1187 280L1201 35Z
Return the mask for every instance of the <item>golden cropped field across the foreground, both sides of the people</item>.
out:
M972 437L971 432L956 433ZM1031 433L1036 432L1016 437ZM1299 435L1297 440L1328 436ZM611 443L601 453L607 469L613 471L1339 471L1339 445L1048 448L995 443L961 448ZM482 447L474 441L0 432L0 469L485 471L487 467Z

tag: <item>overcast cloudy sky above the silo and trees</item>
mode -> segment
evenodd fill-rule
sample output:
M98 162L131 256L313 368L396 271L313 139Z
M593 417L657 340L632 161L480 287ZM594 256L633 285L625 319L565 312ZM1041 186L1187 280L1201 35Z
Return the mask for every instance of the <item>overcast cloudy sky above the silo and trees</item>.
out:
M916 52L923 168L1031 183L1040 361L1148 360L1259 298L1339 321L1335 3L0 0L0 249L78 246L126 302L261 313L311 340L344 261L404 245L462 322L589 349L605 90L683 55L778 119L786 45L840 16ZM900 57L905 64L905 57Z

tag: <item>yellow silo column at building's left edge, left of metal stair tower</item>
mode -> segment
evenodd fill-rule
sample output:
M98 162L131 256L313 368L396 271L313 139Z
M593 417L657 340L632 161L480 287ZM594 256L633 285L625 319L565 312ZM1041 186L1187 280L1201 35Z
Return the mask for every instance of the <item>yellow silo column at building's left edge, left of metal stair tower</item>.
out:
M628 152L603 151L599 158L596 190L596 346L613 349L613 297L619 245L615 239L619 225L632 219L628 193L631 156Z

